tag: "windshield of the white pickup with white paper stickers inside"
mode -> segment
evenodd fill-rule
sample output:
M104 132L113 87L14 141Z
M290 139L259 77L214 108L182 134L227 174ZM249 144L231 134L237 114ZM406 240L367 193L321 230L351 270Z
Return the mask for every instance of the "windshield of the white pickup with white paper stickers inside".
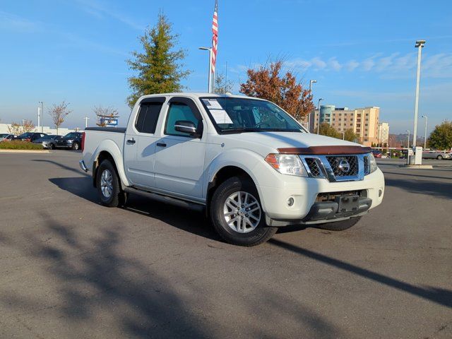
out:
M283 109L266 100L202 97L201 102L220 133L305 131Z

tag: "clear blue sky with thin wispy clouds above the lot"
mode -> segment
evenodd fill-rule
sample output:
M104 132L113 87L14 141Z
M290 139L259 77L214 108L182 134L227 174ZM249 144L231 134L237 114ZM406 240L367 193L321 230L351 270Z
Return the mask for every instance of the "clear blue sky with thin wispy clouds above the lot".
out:
M37 102L66 100L66 127L84 126L93 106L129 116L126 64L138 36L162 10L186 49L187 90L206 90L213 0L47 0L0 2L0 119L33 119ZM452 119L452 2L219 0L218 69L245 81L249 66L284 57L314 100L350 108L381 107L391 133L412 130L415 40L423 49L420 115L430 128ZM45 108L44 108L45 109ZM44 124L50 117L45 109ZM423 121L418 133L423 135Z

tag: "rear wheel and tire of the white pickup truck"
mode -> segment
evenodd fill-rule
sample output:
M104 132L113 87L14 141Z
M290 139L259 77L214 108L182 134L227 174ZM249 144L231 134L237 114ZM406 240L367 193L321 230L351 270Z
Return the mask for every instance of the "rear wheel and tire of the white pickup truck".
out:
M100 203L103 206L118 207L121 205L121 196L124 196L124 192L121 191L116 168L110 160L103 160L100 163L97 169L96 186Z

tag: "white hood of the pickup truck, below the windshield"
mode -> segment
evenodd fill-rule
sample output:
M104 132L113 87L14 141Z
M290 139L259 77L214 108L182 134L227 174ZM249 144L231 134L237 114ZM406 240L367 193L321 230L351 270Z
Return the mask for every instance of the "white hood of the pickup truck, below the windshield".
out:
M329 136L319 136L313 133L298 132L246 132L223 134L225 139L243 141L244 145L266 145L268 148L307 148L311 146L361 146L359 143L343 141Z

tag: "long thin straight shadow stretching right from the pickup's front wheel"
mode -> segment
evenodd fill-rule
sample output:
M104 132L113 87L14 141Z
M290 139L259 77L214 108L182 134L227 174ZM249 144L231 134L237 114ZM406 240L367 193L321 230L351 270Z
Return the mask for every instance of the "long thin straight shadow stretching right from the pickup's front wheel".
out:
M326 263L329 266L354 273L361 276L362 278L366 278L376 283L381 283L383 285L396 288L397 290L410 293L411 295L436 302L436 304L441 304L443 306L452 308L452 290L446 290L437 287L418 287L411 285L410 283L405 283L386 275L367 270L366 268L360 268L358 266L352 265L351 263L346 263L345 261L340 261L338 259L310 251L309 249L303 249L302 247L295 246L278 239L270 239L268 242L270 244L273 244L274 246L286 249L287 251L291 251L293 253L314 259L321 263Z

